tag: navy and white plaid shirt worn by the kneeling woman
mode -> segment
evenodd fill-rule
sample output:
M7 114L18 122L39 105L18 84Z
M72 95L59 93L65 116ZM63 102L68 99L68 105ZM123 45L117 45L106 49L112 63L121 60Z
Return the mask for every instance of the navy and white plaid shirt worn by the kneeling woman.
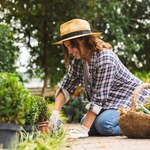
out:
M91 98L104 109L119 109L122 105L131 105L131 95L135 87L142 83L121 63L117 55L111 50L95 51L89 64ZM74 59L68 74L61 85L62 89L73 94L77 86L85 86L83 65L81 60ZM139 100L144 102L143 90Z

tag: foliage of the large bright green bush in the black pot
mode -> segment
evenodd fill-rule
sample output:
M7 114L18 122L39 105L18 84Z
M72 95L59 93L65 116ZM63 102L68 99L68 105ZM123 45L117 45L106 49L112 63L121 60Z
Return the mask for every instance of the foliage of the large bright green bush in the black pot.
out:
M0 73L0 122L24 124L30 107L30 94L12 73Z

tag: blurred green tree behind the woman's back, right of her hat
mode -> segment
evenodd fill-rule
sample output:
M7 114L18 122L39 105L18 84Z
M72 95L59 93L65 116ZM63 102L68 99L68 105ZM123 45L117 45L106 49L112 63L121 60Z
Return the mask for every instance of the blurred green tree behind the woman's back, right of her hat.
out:
M131 70L150 71L150 1L97 1L95 28L104 31L120 59Z

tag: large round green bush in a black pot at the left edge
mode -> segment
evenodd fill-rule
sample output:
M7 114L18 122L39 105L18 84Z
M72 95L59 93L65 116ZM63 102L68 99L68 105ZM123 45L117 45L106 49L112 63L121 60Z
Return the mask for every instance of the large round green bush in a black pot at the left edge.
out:
M30 94L15 74L0 73L0 145L10 148L18 141Z

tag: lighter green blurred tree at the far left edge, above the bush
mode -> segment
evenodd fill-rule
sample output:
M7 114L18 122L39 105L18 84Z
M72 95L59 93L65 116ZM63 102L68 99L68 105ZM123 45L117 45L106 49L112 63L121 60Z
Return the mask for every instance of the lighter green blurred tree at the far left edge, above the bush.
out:
M0 72L16 72L19 50L14 46L14 32L8 25L0 25Z

